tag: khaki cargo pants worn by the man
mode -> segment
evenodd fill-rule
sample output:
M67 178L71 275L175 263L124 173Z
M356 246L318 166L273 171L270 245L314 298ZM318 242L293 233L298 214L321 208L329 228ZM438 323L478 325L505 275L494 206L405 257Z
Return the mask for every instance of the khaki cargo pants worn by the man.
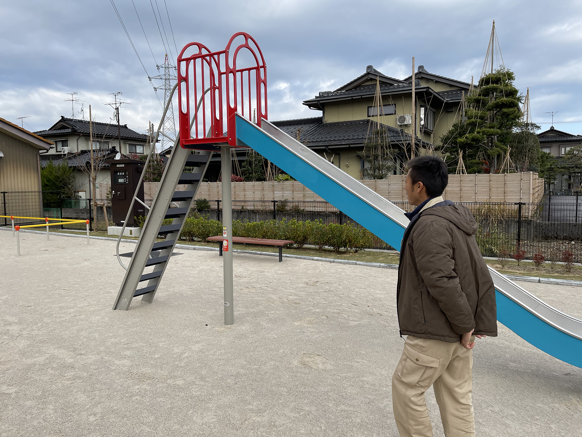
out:
M473 350L460 341L408 336L392 375L392 407L400 437L432 437L424 392L433 384L445 436L474 436L472 370Z

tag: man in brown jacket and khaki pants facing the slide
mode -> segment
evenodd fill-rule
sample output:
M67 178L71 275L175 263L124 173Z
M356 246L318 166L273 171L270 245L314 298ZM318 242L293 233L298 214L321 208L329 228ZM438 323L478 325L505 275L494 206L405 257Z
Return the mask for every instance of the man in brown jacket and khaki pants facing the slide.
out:
M495 288L473 215L441 196L446 164L421 156L407 167L406 195L417 207L400 248L396 306L408 337L392 376L394 417L401 437L432 436L424 393L434 385L445 435L474 436L473 346L497 336Z

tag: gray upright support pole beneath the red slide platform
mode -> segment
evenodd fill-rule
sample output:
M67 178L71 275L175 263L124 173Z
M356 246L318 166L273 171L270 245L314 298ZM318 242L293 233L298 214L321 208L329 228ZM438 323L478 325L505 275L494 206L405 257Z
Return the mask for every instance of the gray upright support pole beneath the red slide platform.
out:
M228 251L222 251L222 263L224 274L224 324L235 324L235 310L233 308L233 283L232 283L232 186L230 179L232 174L232 161L230 146L221 146L222 167L222 228L223 246L227 241Z

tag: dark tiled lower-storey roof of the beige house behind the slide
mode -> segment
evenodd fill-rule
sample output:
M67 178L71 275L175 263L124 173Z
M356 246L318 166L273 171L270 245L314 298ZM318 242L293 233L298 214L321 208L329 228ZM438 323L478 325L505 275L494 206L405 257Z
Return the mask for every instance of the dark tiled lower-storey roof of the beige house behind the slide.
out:
M272 123L293 138L297 138L297 129L299 129L299 141L308 147L317 147L361 145L368 135L370 121L366 119L324 123L321 117L315 117ZM385 126L385 128L391 142L402 144L410 141L407 133L401 133L399 129L392 126Z

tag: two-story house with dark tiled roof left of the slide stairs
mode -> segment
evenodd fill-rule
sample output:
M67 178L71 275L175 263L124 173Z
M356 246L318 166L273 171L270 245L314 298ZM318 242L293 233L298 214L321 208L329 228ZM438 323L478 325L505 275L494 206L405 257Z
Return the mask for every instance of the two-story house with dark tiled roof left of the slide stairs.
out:
M93 122L93 153L100 161L112 159L120 151L123 155L141 155L150 152L147 135L129 129L127 125ZM41 165L44 167L49 160L54 163L67 163L73 167L76 174L76 193L81 199L91 197L90 181L81 168L90 168L91 141L89 121L65 118L61 119L45 131L35 132L55 143L51 149L41 154ZM121 146L119 146L119 144ZM109 164L100 163L96 185L111 182Z

